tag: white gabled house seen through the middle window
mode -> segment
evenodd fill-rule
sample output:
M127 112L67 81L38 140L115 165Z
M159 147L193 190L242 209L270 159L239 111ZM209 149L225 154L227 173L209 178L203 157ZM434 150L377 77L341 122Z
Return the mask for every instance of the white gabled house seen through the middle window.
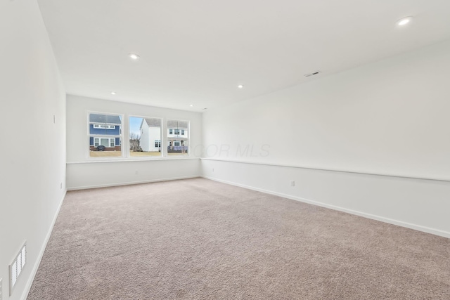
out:
M161 151L161 119L143 118L139 146L143 152Z

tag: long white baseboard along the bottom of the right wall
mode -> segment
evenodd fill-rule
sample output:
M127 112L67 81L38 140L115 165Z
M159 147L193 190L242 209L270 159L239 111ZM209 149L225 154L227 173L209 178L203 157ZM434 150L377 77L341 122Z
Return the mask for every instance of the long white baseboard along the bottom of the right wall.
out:
M210 179L212 181L218 181L218 182L221 182L221 183L226 183L226 184L229 184L229 185L236 185L236 186L238 186L240 188L247 188L249 190L256 190L258 192L262 192L262 193L266 193L266 194L270 194L270 195L275 195L275 196L279 196L279 197L284 197L284 198L288 198L290 200L296 200L296 201L300 201L300 202L304 202L304 203L308 203L308 204L313 204L313 205L317 205L319 207L326 207L328 209L334 209L334 210L337 210L337 211L346 212L348 214L354 214L356 216L362 216L364 218L373 219L373 220L376 220L376 221L382 221L382 222L385 222L385 223L390 223L390 224L401 226L401 227L406 227L406 228L410 228L410 229L414 229L414 230L418 230L418 231L423 231L424 233L431 233L433 235L439 235L441 237L450 238L450 232L447 232L447 231L444 231L444 230L439 230L439 229L435 229L435 228L429 228L429 227L426 227L426 226L416 225L416 224L413 224L413 223L407 223L407 222L404 222L404 221L398 221L398 220L394 220L394 219L389 219L389 218L385 218L383 216L376 216L376 215L373 215L373 214L367 214L365 212L355 211L353 209L345 209L344 207L337 207L335 205L330 205L330 204L326 204L326 203L323 203L323 202L309 200L309 199L302 198L302 197L296 197L296 196L293 196L293 195L278 193L278 192L274 192L274 191L271 191L271 190L264 190L262 188L255 188L255 187L250 186L250 185L243 185L243 184L234 183L234 182L231 182L231 181L224 181L224 180L213 178L213 177L210 177L210 176L201 176L201 177Z

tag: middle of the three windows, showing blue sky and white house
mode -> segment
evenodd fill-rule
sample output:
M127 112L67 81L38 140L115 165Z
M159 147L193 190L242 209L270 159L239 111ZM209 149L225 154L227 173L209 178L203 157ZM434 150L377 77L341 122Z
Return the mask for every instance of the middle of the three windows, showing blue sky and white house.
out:
M161 125L162 120L159 118L129 117L130 157L162 156Z

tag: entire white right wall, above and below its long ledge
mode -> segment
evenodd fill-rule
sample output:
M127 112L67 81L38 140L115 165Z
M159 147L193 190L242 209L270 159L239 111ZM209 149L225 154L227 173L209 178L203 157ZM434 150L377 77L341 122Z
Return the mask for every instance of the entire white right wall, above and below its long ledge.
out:
M449 78L446 41L210 110L203 174L450 236Z

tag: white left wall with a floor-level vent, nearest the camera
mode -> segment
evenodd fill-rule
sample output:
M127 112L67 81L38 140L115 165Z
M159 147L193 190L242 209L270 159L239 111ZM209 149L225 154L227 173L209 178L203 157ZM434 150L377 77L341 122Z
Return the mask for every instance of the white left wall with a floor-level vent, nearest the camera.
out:
M3 299L16 300L27 296L65 195L65 91L37 1L0 2L0 47L0 278ZM10 297L8 265L25 241Z

